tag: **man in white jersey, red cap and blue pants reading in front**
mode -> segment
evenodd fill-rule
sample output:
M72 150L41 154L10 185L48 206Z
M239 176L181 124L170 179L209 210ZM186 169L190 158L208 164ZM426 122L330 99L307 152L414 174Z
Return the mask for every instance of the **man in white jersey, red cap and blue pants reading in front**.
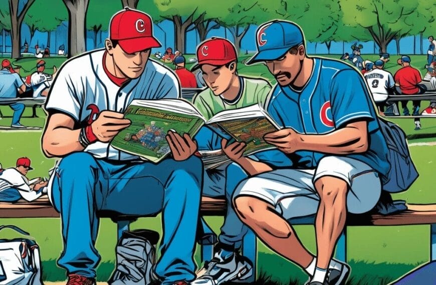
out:
M97 211L162 212L161 256L154 271L161 284L183 285L195 278L202 178L201 161L192 156L196 143L170 131L166 139L173 157L158 164L110 146L131 123L123 112L133 99L178 98L178 81L149 59L151 48L161 46L149 15L125 8L112 17L109 34L104 49L62 66L46 105L42 147L49 157L63 157L49 195L62 217L64 251L58 264L67 269L68 285L95 284Z

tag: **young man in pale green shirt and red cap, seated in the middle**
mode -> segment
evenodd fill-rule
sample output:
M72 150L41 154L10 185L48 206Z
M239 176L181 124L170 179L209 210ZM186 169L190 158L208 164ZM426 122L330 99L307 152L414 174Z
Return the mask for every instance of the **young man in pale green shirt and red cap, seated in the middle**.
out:
M212 37L197 47L198 63L191 70L201 68L207 87L192 99L195 107L206 119L217 112L246 107L253 104L265 105L271 85L264 79L241 76L237 72L238 56L233 43L227 39ZM221 149L222 138L207 127L196 135L199 150ZM245 279L253 274L248 258L241 256L239 249L247 227L243 225L232 207L232 194L236 185L227 180L227 173L235 175L235 165L222 165L205 170L202 194L208 197L226 197L228 211L215 245L212 260L198 272L192 284L219 285L223 282ZM227 168L227 173L226 173ZM232 170L229 170L232 168ZM239 170L240 175L246 175Z

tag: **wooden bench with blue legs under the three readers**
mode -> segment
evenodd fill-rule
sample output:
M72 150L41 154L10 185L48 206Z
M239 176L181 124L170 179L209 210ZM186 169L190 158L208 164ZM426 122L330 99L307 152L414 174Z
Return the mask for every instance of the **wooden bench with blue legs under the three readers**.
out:
M202 197L200 215L203 216L224 216L226 214L226 201ZM346 236L347 227L359 225L416 225L428 224L430 226L430 259L436 260L436 204L408 204L408 210L391 215L372 214L366 216L350 216L347 218L347 226L339 238L336 245L336 258L347 260ZM123 230L129 228L129 223L136 220L137 217L116 216L111 213L99 213L100 217L110 217L118 224L118 237ZM18 217L59 217L59 213L53 208L47 196L41 197L33 202L19 201L17 203L0 202L0 218L18 218ZM201 238L201 259L210 260L213 254L213 244L216 241L216 235L201 217L202 228ZM313 224L313 217L296 218L290 221L291 224ZM249 230L243 240L243 254L252 260L256 266L257 259L257 239L254 233ZM254 276L256 276L256 267L254 267ZM248 279L253 282L254 279Z

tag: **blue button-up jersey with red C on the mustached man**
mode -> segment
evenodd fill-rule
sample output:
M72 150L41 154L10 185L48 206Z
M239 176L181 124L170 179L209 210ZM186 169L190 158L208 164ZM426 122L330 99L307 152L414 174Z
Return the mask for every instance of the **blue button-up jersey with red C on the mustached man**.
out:
M319 57L313 60L312 75L301 90L276 84L268 101L268 113L283 128L305 134L325 134L352 121L368 121L368 150L347 156L386 174L390 168L387 145L363 77L341 61ZM315 168L325 155L303 150L289 156L293 167Z

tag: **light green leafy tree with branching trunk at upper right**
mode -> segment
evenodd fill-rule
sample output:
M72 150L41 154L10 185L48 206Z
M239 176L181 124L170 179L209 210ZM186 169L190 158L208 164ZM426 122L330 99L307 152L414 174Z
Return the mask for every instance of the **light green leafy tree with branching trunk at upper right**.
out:
M417 32L419 25L418 1L410 0L339 0L343 9L343 22L361 26L369 31L379 46L386 52L389 42Z

